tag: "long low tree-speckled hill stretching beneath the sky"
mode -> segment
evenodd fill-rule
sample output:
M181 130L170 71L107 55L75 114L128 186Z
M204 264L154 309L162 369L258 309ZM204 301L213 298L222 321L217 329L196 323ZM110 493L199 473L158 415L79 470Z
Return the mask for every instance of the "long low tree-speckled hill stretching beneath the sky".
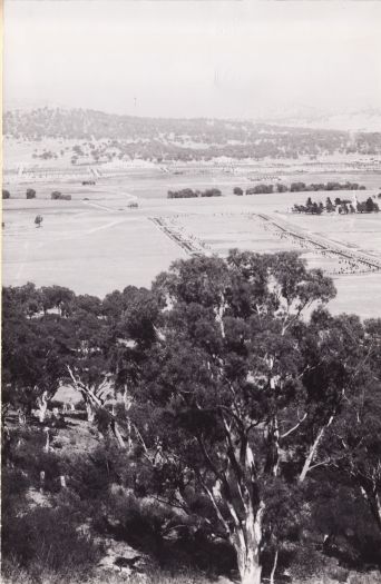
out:
M13 110L3 116L6 136L109 140L123 156L146 159L299 158L334 152L381 152L381 132L301 128L238 120L163 119L84 109Z

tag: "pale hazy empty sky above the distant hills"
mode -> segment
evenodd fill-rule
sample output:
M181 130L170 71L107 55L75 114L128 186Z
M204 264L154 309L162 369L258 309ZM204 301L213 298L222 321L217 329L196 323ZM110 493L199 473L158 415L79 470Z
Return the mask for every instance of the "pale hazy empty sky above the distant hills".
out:
M381 107L381 2L4 0L7 107L258 118Z

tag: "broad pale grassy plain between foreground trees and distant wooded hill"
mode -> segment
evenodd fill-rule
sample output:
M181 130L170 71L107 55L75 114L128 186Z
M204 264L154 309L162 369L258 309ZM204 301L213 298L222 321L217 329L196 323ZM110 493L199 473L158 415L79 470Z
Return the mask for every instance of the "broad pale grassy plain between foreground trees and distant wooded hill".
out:
M299 179L309 181L310 177ZM361 192L359 198L377 195L379 179L374 175L373 189ZM291 207L294 202L304 202L307 194L228 196L233 185L240 184L244 181L233 176L174 177L145 171L127 178L102 178L91 187L84 187L78 180L58 185L45 181L36 186L38 198L33 200L25 199L27 186L33 185L14 185L12 198L3 201L3 284L21 285L28 280L38 286L60 284L76 293L99 296L129 284L149 286L173 260L187 257L186 249L150 220L159 217L196 247L201 245L205 253L224 255L233 247L258 253L296 249L311 267L322 267L334 276L339 294L332 310L355 311L363 317L381 315L381 271L338 274L342 265L336 257L281 237L277 229L257 217L266 214L306 238L318 237L381 260L381 214L294 215L290 212ZM166 199L169 188L184 186L216 186L225 196ZM49 200L56 189L70 194L72 200ZM315 200L325 200L328 194L313 195ZM346 195L351 196L340 192L340 196ZM135 197L139 208L129 209L128 202ZM38 214L43 217L41 228L36 228L33 222Z

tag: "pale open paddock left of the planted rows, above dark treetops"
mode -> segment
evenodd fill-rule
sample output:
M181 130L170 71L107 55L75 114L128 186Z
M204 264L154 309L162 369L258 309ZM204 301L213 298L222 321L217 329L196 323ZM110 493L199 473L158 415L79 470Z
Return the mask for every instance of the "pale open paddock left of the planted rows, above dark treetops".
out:
M149 286L158 271L182 256L141 214L75 201L25 202L32 205L3 214L6 285L60 284L104 296L128 284ZM37 214L43 216L41 228L33 224Z

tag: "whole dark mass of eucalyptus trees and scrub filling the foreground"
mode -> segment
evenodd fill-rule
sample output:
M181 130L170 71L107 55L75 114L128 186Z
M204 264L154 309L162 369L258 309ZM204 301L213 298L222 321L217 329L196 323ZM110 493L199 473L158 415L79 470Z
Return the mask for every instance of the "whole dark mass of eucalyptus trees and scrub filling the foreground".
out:
M332 316L334 295L296 254L237 250L102 300L3 288L4 570L88 577L110 533L244 584L380 567L381 319ZM52 415L60 385L81 425Z

